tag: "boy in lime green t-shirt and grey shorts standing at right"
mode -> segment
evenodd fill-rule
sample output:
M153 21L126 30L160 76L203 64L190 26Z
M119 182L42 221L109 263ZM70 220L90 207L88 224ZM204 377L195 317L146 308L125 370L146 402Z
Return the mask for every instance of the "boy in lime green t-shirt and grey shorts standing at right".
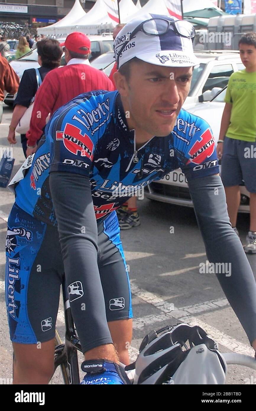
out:
M250 231L244 251L256 253L256 33L239 41L244 70L231 75L217 145L228 215L234 231L240 205L239 185L250 193Z

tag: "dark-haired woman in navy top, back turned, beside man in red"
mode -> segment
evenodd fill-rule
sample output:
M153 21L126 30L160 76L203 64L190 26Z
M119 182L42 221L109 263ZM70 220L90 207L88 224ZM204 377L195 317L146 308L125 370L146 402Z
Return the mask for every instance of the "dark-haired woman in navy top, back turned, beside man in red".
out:
M38 63L41 66L39 76L41 80L44 80L46 74L60 66L60 60L62 56L62 48L57 40L43 39L37 43ZM37 74L35 69L25 70L20 82L18 94L15 99L15 107L12 114L12 121L9 125L8 141L9 143L16 144L15 129L21 117L31 104L31 100L35 97L38 89ZM21 134L21 144L24 155L26 157L27 139L25 134Z

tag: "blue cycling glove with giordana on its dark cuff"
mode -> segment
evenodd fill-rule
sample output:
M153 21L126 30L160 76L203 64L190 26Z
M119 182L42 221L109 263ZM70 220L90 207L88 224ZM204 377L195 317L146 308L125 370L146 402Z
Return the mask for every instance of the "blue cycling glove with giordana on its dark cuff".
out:
M130 384L125 370L108 360L84 361L81 368L86 372L82 385L125 385Z

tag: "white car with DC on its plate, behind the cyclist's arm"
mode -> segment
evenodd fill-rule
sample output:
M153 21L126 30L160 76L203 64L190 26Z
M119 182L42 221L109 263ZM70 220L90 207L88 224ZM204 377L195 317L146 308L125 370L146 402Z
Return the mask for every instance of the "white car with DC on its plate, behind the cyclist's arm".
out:
M219 139L221 118L225 106L225 95L226 88L219 92L219 94L215 96L212 101L197 103L194 104L192 108L187 109L189 113L197 115L198 117L203 118L209 123L214 135L216 145ZM238 211L250 212L250 193L247 191L244 185L240 185L240 192L241 202ZM156 201L162 201L164 203L193 207L193 203L189 195L187 180L181 169L171 171L171 173L165 175L161 180L150 183L148 187L145 187L145 197Z

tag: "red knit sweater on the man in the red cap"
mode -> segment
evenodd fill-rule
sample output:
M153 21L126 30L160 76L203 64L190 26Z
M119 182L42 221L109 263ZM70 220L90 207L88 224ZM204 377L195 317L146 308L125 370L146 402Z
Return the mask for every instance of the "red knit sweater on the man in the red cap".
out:
M69 100L92 90L113 91L106 74L86 64L71 64L51 70L39 87L26 137L28 145L35 145L42 136L46 118Z

